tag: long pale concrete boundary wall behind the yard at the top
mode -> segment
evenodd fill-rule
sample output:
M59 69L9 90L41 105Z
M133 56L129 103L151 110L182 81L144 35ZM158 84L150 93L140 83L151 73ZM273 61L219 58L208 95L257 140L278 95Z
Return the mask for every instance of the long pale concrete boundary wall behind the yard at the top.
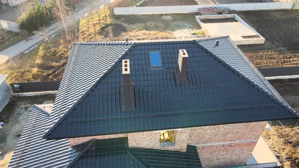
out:
M115 15L136 15L136 14L171 14L171 13L192 13L198 12L199 8L226 7L236 11L255 10L281 10L292 9L294 3L248 3L248 4L215 4L215 5L192 5L192 6L165 6L165 7L126 7L114 8Z

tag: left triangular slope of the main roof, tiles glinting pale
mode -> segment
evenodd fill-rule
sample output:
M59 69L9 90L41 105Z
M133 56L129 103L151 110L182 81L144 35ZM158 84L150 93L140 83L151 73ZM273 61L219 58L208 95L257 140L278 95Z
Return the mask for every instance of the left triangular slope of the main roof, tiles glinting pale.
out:
M131 43L74 43L47 130L132 46Z

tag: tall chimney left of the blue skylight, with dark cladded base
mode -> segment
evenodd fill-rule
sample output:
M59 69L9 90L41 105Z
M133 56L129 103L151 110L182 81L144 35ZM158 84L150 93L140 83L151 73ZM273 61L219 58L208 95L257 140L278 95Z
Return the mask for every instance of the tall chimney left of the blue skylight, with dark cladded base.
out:
M130 81L130 60L123 60L123 107L132 110L134 103L134 86Z

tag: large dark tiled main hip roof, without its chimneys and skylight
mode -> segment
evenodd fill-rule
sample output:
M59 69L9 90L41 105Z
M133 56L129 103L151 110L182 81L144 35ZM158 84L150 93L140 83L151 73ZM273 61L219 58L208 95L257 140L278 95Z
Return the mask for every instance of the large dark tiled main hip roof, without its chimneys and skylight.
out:
M219 40L219 46L215 46L216 40ZM115 44L73 45L60 86L62 89L58 91L60 96L60 92L68 94L72 101L65 105L57 103L61 98L56 98L51 115L55 119L52 119L53 125L50 125L45 138L166 130L297 116L229 37L123 44L127 50L121 50L122 56L114 57L114 62L107 63L109 66L106 62L93 64L104 60L105 52L112 53L109 49L101 51L101 54L94 50L106 48L106 45ZM185 85L176 82L179 49L185 49L189 55ZM163 68L150 68L149 51L161 52ZM90 57L86 53L95 56L86 59ZM74 57L78 58L76 63L72 63ZM136 107L131 111L122 108L122 59L130 60L130 76L134 83ZM71 70L71 66L79 68ZM82 69L85 66L94 69L88 72L91 74ZM105 68L101 75L93 75L99 66L109 68ZM87 78L87 74L91 77ZM67 85L67 80L78 84L74 87ZM92 85L87 86L89 80ZM81 87L83 90L78 91ZM60 117L57 109L61 109Z

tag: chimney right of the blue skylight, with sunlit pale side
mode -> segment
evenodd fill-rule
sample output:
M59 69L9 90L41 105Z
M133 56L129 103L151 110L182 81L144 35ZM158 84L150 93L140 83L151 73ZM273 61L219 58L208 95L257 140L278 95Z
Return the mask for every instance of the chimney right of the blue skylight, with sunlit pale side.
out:
M186 83L187 78L187 64L188 64L188 54L186 50L179 50L178 51L178 82L180 84Z

